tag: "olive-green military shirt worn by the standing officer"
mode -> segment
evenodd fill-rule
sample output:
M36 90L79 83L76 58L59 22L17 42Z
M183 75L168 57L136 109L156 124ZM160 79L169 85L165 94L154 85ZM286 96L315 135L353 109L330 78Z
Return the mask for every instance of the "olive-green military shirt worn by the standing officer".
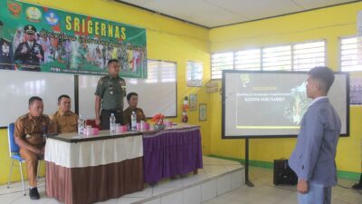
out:
M104 110L123 110L123 98L126 96L126 81L110 75L100 78L95 95L100 96Z

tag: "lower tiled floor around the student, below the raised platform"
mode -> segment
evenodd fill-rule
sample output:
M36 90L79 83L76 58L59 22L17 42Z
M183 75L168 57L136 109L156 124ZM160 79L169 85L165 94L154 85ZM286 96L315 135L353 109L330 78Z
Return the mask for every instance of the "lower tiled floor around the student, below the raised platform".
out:
M246 185L205 204L297 204L295 186L274 186L272 184L272 170L254 168L249 169L249 178L253 188ZM362 204L362 190L350 188L356 180L338 180L339 185L332 189L332 204Z

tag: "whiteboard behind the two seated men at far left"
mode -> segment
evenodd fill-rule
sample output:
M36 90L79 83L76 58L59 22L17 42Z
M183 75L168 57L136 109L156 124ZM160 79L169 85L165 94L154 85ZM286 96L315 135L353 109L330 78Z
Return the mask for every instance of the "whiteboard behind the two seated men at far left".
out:
M44 113L58 109L58 97L71 96L74 111L74 76L62 73L36 73L0 70L0 127L6 127L19 116L29 112L28 101L32 96L43 98Z

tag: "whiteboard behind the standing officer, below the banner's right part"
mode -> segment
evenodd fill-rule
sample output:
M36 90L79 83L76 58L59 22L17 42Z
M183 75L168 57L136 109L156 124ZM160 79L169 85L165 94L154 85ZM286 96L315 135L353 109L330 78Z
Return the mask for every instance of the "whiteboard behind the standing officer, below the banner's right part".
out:
M79 113L83 118L94 119L94 102L97 83L101 76L79 76ZM148 79L125 78L127 93L138 93L138 108L146 117L162 112L167 117L177 116L176 63L148 60ZM124 110L129 107L124 98Z

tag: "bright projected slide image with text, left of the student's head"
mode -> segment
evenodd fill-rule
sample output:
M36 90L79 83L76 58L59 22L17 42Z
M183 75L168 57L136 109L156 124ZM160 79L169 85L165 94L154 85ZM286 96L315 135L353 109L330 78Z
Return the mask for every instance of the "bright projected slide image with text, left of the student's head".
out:
M298 129L301 116L310 103L305 93L306 84L278 83L266 77L255 76L251 81L250 75L245 74L240 80L236 92L236 128L262 128L257 126L262 123L267 128ZM252 118L245 114L245 109L254 112Z

